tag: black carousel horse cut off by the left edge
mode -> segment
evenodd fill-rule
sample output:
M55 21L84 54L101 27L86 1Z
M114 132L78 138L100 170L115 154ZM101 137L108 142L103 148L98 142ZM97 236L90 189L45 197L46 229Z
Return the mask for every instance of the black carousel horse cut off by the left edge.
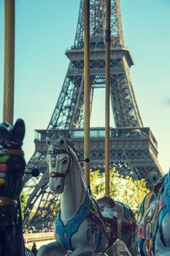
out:
M0 124L0 256L33 256L25 248L20 192L26 162L21 146L25 124L18 119L11 127Z

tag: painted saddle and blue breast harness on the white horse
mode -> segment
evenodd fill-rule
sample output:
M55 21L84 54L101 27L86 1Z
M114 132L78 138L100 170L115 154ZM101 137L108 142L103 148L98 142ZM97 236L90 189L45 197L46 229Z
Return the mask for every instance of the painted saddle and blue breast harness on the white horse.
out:
M130 222L132 217L134 222ZM101 235L105 233L109 240L107 249L120 238L122 232L135 236L136 221L131 209L124 203L118 203L109 197L102 197L96 201L91 197L88 189L85 202L66 225L63 225L61 221L61 211L59 211L55 221L55 233L60 236L66 249L72 251L72 235L77 232L78 227L85 219L88 221L87 239L95 233L96 244L98 245Z

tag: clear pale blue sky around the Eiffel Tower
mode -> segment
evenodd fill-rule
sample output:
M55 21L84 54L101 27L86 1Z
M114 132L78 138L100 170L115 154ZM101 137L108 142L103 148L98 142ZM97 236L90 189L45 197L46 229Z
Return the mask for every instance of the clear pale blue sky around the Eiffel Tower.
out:
M26 161L34 154L34 129L46 129L63 85L74 42L79 0L15 0L15 116L26 122ZM170 1L120 0L131 80L144 127L158 141L158 159L169 170ZM4 86L4 1L0 0L0 121ZM92 126L104 126L104 94L94 94ZM101 109L98 113L98 102ZM111 118L111 125L114 123Z

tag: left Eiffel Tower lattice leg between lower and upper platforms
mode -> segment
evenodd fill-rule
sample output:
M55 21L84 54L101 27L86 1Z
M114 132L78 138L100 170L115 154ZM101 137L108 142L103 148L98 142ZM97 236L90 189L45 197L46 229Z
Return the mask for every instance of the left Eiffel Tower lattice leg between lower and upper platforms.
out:
M77 71L78 61L71 61L61 94L48 129L79 127L78 119L84 95L83 72ZM77 73L79 72L79 73Z

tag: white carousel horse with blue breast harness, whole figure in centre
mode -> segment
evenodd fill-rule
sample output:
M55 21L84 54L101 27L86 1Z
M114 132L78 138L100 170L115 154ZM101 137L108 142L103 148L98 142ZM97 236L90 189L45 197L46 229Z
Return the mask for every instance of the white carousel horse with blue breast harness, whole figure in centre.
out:
M117 239L135 255L136 219L131 209L109 197L93 200L74 143L63 136L46 141L50 190L60 194L60 211L56 241L41 246L37 256L113 256Z

